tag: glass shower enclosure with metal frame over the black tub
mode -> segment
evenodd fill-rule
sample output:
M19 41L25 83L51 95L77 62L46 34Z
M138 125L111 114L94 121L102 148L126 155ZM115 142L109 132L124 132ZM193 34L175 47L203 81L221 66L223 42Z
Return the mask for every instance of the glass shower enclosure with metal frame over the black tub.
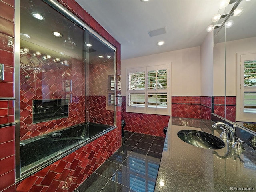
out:
M20 0L19 33L22 179L115 128L116 49L55 1Z

